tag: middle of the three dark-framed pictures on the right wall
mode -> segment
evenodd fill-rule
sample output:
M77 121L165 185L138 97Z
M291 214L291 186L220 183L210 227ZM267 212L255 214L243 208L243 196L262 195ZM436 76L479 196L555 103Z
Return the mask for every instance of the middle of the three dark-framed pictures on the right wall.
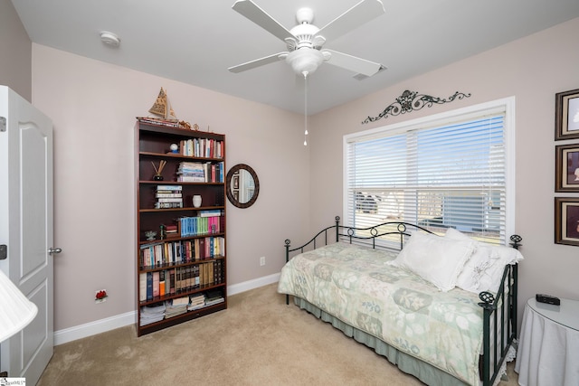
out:
M579 144L555 146L555 192L579 192Z

